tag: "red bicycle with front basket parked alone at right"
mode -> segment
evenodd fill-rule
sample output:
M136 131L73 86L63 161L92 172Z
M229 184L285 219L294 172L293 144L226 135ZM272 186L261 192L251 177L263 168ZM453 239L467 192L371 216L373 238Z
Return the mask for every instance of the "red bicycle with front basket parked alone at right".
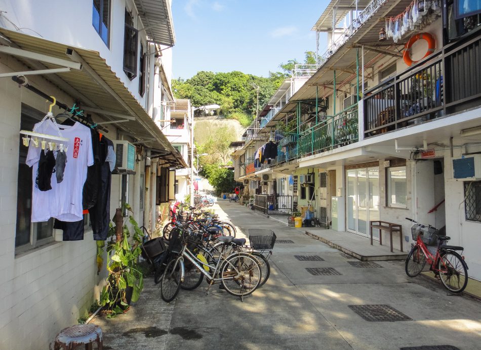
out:
M406 259L406 274L415 277L424 268L426 261L430 265L430 270L434 272L436 278L441 280L443 286L452 293L461 293L468 283L468 266L464 257L456 251L464 251L463 247L448 246L446 243L451 239L448 236L438 236L438 230L431 225L423 225L417 221L406 218L415 225L411 228L413 239L413 249ZM437 240L436 254L429 252L426 244L432 246Z

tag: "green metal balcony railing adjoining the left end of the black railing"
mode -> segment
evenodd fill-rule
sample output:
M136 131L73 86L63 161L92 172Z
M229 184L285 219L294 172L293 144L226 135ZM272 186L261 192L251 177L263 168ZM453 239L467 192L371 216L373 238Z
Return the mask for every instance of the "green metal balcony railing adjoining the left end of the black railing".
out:
M357 142L357 104L308 129L299 137L300 156L325 152Z

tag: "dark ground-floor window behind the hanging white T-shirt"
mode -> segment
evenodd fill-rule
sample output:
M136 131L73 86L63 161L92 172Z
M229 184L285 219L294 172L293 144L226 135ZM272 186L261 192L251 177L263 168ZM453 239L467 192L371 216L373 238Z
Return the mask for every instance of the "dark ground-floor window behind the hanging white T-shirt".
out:
M44 114L22 104L20 129L32 130L33 125L42 120ZM28 148L19 141L18 186L17 186L17 225L15 253L42 246L54 240L54 219L32 223L32 168L25 164Z

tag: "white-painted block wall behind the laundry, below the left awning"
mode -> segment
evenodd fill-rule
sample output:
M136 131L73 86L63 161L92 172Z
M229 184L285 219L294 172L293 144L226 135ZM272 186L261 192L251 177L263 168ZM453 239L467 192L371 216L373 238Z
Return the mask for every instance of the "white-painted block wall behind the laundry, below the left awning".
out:
M3 62L11 58L2 57ZM6 71L0 66L0 71ZM73 101L32 78L35 86L51 91L66 103ZM98 298L105 270L97 275L96 244L92 231L83 241L53 242L15 255L17 173L21 102L46 111L48 104L10 79L0 80L0 339L5 349L47 348L62 328L77 319ZM22 146L23 147L23 146ZM19 199L21 200L21 199Z

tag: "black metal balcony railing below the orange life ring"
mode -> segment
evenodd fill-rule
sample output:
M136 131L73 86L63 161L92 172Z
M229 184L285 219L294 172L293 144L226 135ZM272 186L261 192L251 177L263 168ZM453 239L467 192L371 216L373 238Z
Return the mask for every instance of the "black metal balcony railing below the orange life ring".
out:
M367 91L363 99L364 136L479 106L481 31L476 32Z

